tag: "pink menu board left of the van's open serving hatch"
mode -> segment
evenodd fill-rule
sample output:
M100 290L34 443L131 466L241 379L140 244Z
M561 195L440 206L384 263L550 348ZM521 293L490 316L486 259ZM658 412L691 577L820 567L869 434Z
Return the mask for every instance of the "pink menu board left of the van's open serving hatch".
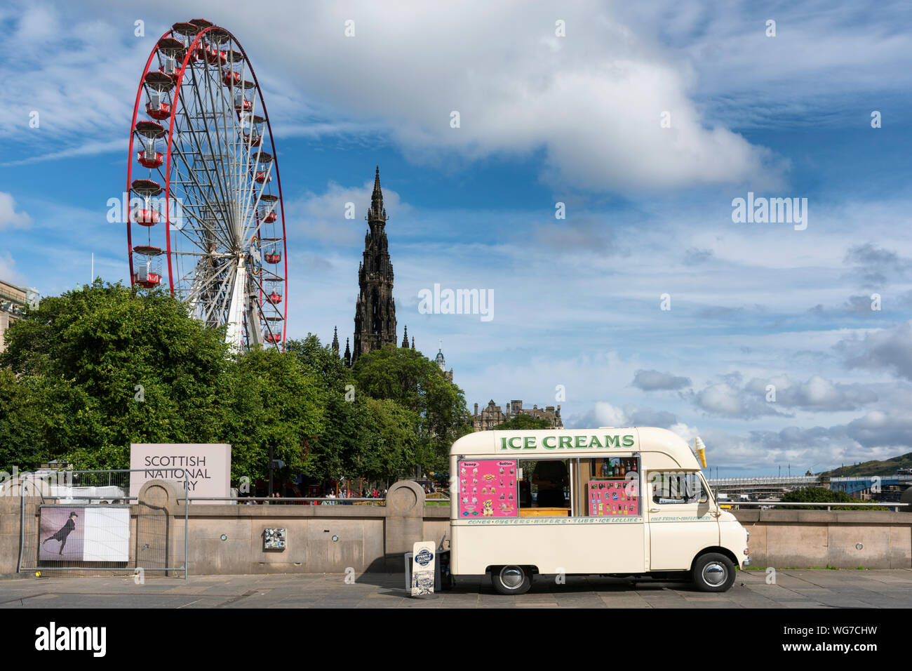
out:
M515 518L519 515L516 460L459 462L461 518Z

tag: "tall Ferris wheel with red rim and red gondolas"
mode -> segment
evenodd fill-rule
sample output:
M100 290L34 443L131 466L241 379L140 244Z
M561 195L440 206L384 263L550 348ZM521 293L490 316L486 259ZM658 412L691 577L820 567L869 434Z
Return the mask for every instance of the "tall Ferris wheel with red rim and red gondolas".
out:
M269 116L244 48L205 19L150 53L133 108L130 283L167 287L235 351L284 349L285 210Z

